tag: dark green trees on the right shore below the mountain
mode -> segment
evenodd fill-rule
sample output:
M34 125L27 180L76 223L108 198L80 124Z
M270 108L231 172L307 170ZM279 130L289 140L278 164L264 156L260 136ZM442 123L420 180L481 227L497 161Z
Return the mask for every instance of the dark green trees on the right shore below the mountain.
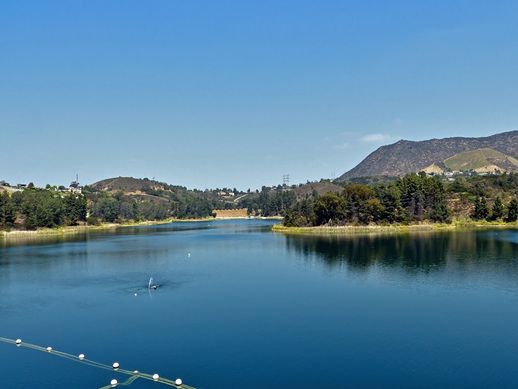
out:
M510 179L514 180L515 177L511 176ZM500 180L502 186L506 182L505 179ZM468 186L461 186L462 189L457 188L459 191L468 191ZM485 191L476 186L469 188L474 188L477 193L474 211L471 213L474 219L506 218L506 221L516 221L518 218L518 200L514 195L507 207L503 206L501 197L497 196L490 210L486 200L487 187ZM480 193L483 196L478 196ZM441 180L424 172L412 173L389 184L346 185L342 192L328 192L321 196L313 192L285 212L283 223L287 227L409 224L424 220L450 223L452 210L448 206L447 197L448 190Z

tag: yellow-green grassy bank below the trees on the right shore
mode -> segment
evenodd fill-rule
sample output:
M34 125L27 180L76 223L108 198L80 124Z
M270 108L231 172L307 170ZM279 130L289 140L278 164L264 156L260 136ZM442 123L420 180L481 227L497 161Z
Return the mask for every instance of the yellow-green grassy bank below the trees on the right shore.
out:
M415 225L390 225L390 226L317 226L317 227L284 227L275 225L271 227L274 232L282 232L294 235L361 235L373 233L392 233L392 232L419 232L419 231L440 231L440 230L457 230L462 228L501 228L501 229L518 229L518 222L496 223L496 222L471 222L471 223L436 223L436 224L415 224Z

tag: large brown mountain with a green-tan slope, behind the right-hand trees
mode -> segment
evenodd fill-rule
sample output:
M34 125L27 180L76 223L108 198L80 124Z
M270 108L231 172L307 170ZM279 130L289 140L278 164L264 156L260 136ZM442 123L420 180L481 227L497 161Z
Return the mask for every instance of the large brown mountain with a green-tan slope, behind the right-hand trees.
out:
M478 151L466 153L475 150ZM457 156L460 153L466 154ZM462 170L469 170L475 165L482 168L481 163L486 162L500 170L518 171L514 161L518 163L518 131L479 138L453 137L420 142L400 140L378 148L338 179L373 175L398 176L419 172L430 165L446 167L453 164L459 168L464 166L465 169Z

